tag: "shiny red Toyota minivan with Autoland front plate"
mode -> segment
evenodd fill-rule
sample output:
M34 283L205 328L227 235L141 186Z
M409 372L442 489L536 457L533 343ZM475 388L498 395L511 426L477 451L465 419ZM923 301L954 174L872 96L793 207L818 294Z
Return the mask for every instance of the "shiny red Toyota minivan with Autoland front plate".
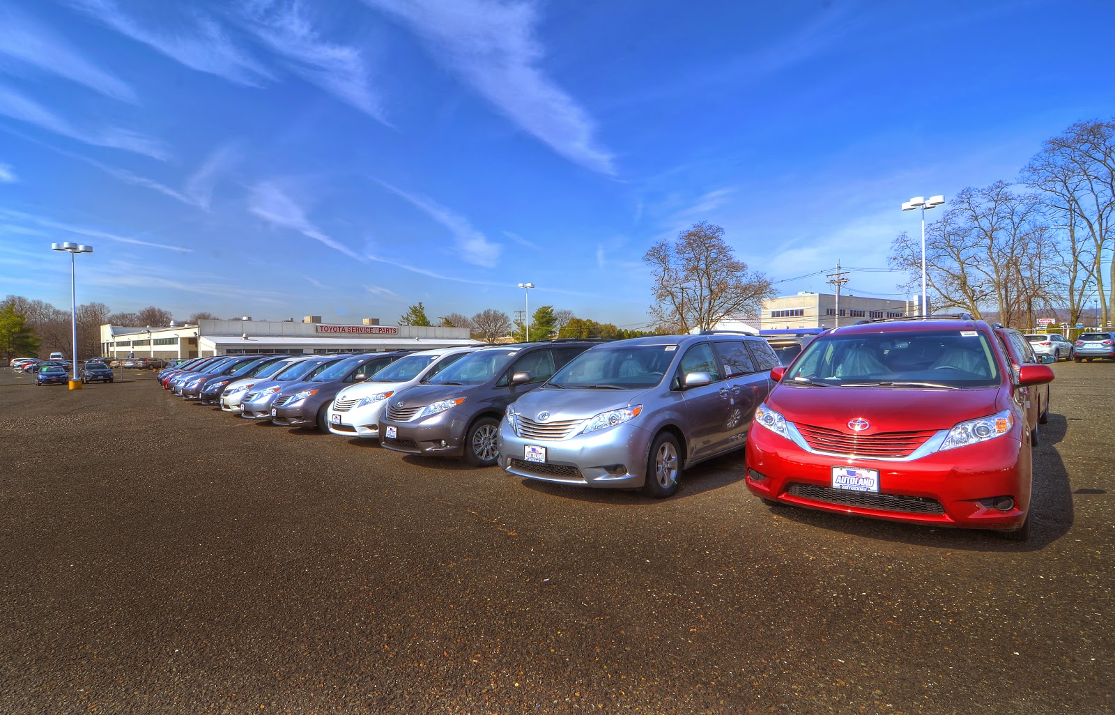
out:
M1029 538L1026 388L1054 375L1016 368L987 322L836 328L770 377L745 457L764 502Z

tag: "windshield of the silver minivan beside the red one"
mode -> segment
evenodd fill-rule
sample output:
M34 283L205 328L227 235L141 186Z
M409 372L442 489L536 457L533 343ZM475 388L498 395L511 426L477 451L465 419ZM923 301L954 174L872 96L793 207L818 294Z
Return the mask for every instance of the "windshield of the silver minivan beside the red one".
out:
M546 386L646 389L662 381L676 345L617 345L585 350L550 378Z

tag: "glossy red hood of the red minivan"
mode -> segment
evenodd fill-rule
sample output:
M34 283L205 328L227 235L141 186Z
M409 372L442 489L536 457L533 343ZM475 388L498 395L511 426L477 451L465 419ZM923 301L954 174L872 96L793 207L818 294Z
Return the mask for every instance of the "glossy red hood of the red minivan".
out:
M847 423L866 419L872 435L883 432L950 429L958 423L1007 408L1001 386L972 389L893 387L798 387L776 385L766 404L786 422L828 427L853 434Z

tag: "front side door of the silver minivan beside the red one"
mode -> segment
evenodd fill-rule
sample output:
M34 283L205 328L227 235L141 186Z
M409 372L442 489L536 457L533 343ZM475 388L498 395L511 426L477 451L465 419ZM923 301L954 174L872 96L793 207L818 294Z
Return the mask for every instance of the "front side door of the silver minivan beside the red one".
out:
M686 375L692 373L708 373L712 381L686 388ZM681 390L688 462L700 461L721 452L728 439L728 425L731 422L731 390L721 379L716 355L707 341L686 349L671 386Z

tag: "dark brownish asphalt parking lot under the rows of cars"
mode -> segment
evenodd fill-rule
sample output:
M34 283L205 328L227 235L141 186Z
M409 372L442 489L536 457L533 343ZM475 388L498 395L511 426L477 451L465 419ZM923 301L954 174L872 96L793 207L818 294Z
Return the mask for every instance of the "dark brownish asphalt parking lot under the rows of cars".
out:
M1025 544L0 368L0 713L1109 713L1115 364L1053 367Z

